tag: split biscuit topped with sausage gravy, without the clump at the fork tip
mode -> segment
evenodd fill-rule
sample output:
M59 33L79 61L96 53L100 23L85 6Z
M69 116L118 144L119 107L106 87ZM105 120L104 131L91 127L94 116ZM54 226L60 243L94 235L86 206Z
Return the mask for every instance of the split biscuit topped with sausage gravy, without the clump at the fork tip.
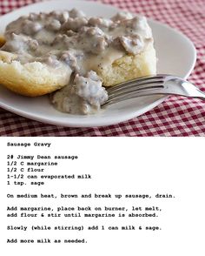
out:
M71 74L96 71L102 85L113 86L156 72L146 17L129 13L111 19L79 10L31 13L8 24L5 38L0 37L0 84L25 96L61 89Z

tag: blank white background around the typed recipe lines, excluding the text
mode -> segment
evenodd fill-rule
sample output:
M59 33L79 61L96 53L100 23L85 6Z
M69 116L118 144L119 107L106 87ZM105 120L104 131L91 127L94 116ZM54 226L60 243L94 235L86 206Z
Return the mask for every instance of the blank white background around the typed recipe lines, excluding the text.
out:
M48 147L7 147L7 142L51 142ZM205 255L204 138L1 138L1 250L3 255ZM40 187L7 186L7 155L78 155L50 173L92 175L89 180L53 180ZM39 167L38 167L39 168ZM46 168L46 167L45 167ZM46 174L44 172L44 174ZM7 199L10 193L149 193L152 199ZM170 193L175 199L155 199ZM118 201L117 201L118 200ZM157 219L6 218L7 205L160 206ZM139 212L138 212L139 213ZM161 226L161 231L10 232L8 225ZM6 244L7 238L75 239L86 244Z

